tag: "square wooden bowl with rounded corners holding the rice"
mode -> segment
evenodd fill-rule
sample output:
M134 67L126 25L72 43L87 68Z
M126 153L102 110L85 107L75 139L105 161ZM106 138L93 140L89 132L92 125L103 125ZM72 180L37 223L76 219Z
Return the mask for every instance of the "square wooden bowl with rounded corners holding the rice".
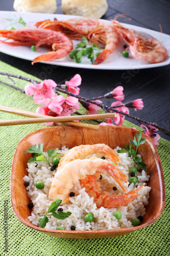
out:
M33 225L28 216L31 210L28 208L30 199L27 196L27 190L24 185L23 177L27 175L27 163L31 158L31 153L26 150L30 146L43 143L44 151L51 148L61 148L78 146L81 144L105 143L111 148L120 146L125 148L126 143L133 139L136 130L129 127L102 126L101 131L94 131L86 128L61 126L47 127L34 131L21 139L18 143L11 170L11 202L12 208L17 218L27 226L41 231L50 236L59 238L109 238L123 236L137 229L146 227L156 221L161 215L165 203L165 187L163 171L157 149L152 140L142 133L142 138L146 142L138 148L143 162L147 164L147 174L150 175L148 186L150 191L149 204L146 206L146 214L141 225L130 228L120 228L112 230L94 230L94 231L71 231L71 230L52 230L40 228Z

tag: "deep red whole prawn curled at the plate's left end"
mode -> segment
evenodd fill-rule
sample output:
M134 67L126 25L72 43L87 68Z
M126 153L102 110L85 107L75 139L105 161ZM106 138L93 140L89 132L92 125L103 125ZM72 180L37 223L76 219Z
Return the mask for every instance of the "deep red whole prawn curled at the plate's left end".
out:
M50 48L50 52L33 59L32 64L43 60L60 59L73 49L72 41L65 34L47 29L0 30L0 36L7 38L0 42L11 46L35 45L36 51L40 46ZM13 41L7 41L8 39Z

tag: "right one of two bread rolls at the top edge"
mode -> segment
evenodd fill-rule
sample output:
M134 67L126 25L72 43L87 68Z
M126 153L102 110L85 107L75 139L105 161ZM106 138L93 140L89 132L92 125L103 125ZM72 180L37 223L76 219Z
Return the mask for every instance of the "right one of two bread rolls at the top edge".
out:
M64 14L101 18L107 11L106 0L62 0Z

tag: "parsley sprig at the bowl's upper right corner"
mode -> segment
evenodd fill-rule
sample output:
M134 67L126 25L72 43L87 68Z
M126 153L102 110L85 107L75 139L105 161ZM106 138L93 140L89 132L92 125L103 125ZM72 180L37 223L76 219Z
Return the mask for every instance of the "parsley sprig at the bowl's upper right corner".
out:
M145 166L147 166L145 163L142 162L142 159L138 156L136 156L137 148L138 146L144 144L146 139L141 138L141 131L136 134L136 138L133 138L132 140L129 140L130 144L126 144L126 150L123 148L122 150L117 150L118 153L128 153L131 157L132 161L137 164L142 170L147 170ZM136 147L136 150L133 150L132 145Z

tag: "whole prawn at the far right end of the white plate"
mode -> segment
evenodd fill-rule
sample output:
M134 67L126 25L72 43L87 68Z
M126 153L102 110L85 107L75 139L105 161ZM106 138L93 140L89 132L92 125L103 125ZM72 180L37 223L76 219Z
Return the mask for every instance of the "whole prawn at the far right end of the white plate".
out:
M123 37L134 58L149 63L158 63L165 60L166 48L156 38L149 34L123 27L117 20L113 20L117 33Z

